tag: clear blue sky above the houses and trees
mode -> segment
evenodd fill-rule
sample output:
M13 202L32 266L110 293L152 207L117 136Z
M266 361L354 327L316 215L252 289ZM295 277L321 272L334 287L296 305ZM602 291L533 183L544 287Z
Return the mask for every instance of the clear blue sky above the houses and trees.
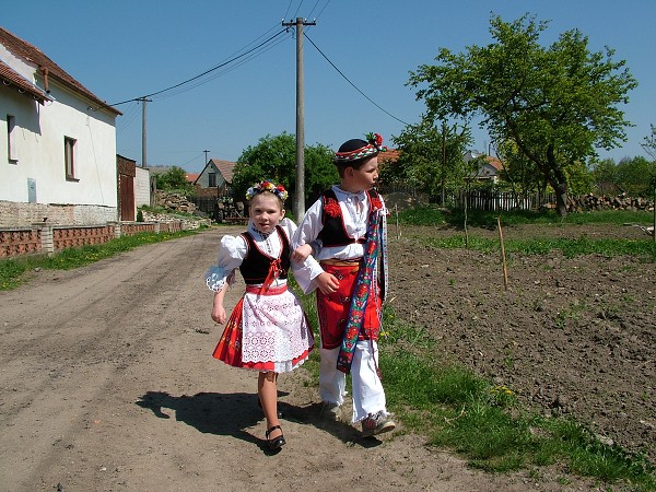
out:
M418 122L425 106L406 86L409 72L432 63L441 47L462 52L490 43L491 13L508 22L525 13L550 21L544 45L578 28L591 50L609 46L616 60L626 60L639 87L623 110L635 126L622 148L599 154L646 156L640 144L656 124L652 0L21 0L4 3L0 25L109 104L243 55L147 105L148 163L199 172L206 150L208 157L236 161L267 134L294 133L296 40L293 32L279 34L283 19L316 20L306 34L351 82L305 40L305 141L336 149L368 131L389 144L406 122ZM267 49L244 55L277 34ZM124 113L117 152L141 163L141 106L117 107ZM472 148L487 150L487 133L475 128L473 137Z

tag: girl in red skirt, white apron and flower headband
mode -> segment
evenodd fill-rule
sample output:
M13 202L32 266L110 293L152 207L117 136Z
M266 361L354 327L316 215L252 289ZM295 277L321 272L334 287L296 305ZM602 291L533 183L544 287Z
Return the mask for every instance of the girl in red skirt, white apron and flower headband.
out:
M314 348L305 313L286 284L290 237L296 230L284 219L286 197L282 185L253 185L246 192L248 231L236 237L223 236L219 260L206 274L209 289L214 291L212 319L220 325L226 321L223 298L237 268L246 282L246 292L233 309L213 356L259 371L258 397L271 449L285 444L278 420L278 374L298 367Z

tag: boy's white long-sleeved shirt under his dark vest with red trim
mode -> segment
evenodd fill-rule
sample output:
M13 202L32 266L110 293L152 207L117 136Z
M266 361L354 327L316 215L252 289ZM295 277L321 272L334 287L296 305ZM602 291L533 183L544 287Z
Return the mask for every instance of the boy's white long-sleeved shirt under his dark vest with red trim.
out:
M337 200L341 207L347 234L355 239L364 237L366 235L371 207L370 201L366 199L366 192L361 191L359 194L351 194L342 190L337 185L332 186L332 190L335 191ZM363 204L363 209L360 211L360 213L356 210L358 201ZM383 202L382 197L380 201ZM325 259L356 259L362 258L364 255L364 244L362 243L352 243L345 246L324 247L320 239L318 239L319 232L321 232L324 229L324 225L321 224L321 210L323 201L319 198L312 204L309 209L307 209L305 216L292 236L292 249L295 249L304 244L311 244L314 250L313 256L309 256L303 265L292 262L294 278L296 279L296 282L298 282L298 285L303 292L306 294L313 292L317 288L314 279L324 272L319 261ZM386 213L384 202L383 213ZM362 221L356 223L356 216L362 218Z

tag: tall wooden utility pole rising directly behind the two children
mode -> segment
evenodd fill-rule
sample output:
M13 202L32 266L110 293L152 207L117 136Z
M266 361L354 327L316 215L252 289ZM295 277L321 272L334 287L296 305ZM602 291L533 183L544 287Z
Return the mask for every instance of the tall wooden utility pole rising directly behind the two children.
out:
M296 17L296 22L282 22L283 27L296 26L296 196L294 218L296 222L305 215L305 103L303 79L303 26L316 25Z

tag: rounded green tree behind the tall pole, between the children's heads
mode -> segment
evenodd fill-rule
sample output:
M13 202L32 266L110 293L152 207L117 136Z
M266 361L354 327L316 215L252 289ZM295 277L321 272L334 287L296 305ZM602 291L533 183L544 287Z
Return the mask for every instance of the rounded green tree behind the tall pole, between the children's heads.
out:
M241 200L254 183L271 179L282 184L290 196L296 191L296 139L282 132L267 134L256 145L249 145L237 159L232 188L235 200ZM326 145L305 147L305 199L314 200L331 184L338 183L332 165L332 152ZM291 200L286 204L291 210Z

